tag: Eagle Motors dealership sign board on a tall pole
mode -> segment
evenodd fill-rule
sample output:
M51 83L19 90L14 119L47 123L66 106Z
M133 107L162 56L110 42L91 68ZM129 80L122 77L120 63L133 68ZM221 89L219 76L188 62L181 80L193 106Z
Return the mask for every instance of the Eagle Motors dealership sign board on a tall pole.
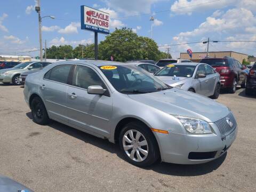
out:
M81 29L109 34L109 13L81 5Z

